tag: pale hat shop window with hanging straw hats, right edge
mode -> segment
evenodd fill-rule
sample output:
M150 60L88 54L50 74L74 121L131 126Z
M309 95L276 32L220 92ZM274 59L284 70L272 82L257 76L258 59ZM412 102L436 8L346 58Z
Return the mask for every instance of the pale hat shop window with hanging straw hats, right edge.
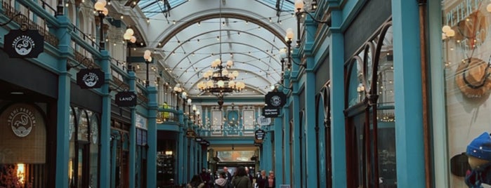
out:
M441 1L450 187L466 187L466 147L490 131L490 1Z

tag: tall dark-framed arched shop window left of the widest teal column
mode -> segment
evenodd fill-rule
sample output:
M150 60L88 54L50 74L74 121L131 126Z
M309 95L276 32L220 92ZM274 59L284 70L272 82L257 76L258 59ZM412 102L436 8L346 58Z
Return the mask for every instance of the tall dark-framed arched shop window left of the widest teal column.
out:
M397 187L392 23L360 46L346 71L348 187Z

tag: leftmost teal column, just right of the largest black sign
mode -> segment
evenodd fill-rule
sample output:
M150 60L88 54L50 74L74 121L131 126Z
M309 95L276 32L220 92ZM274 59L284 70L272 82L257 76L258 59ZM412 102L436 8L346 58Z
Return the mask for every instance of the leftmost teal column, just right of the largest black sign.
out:
M60 60L58 63L58 102L56 106L56 187L68 187L68 161L70 154L70 140L68 139L68 126L70 124L70 73L67 72L67 57L70 53L70 20L65 15L56 17L60 22L60 28L56 30L56 36L60 43Z

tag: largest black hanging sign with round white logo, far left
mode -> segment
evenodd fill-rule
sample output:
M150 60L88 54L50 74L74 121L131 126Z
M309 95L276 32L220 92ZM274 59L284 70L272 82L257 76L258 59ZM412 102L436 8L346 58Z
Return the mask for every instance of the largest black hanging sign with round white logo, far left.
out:
M11 58L37 58L44 51L44 36L37 30L11 30L4 39L4 50Z

